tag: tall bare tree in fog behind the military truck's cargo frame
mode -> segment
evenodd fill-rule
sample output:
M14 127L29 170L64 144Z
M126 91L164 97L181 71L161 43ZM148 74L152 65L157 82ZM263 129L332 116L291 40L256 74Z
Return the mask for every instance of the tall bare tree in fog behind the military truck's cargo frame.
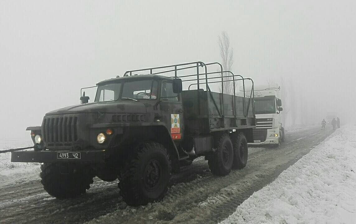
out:
M230 39L227 36L227 33L223 31L221 36L219 36L219 47L220 47L220 56L223 66L223 71L231 71L232 64L234 63L234 50L230 47ZM229 73L223 73L223 76L229 76ZM224 78L224 81L232 80L231 77ZM232 94L233 93L233 82L223 82L224 93ZM221 87L220 87L221 88ZM220 89L221 91L221 89Z

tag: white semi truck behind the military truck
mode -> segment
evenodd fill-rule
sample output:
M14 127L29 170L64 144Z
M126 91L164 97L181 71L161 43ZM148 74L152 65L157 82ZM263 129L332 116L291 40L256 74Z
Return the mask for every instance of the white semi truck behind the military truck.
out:
M239 94L244 94L241 91ZM246 98L252 97L251 91L245 92ZM256 129L253 129L251 145L275 145L284 141L284 127L281 119L282 99L281 87L260 86L255 87Z

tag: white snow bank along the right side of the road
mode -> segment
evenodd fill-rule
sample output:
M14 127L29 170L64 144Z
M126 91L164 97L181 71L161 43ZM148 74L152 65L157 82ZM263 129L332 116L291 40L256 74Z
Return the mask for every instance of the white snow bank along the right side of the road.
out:
M356 126L342 127L245 200L227 223L356 223Z

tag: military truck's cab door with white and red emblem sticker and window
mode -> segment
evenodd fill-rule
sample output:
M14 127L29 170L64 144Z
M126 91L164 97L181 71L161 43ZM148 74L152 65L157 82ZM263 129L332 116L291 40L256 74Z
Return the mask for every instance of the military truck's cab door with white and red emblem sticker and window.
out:
M171 80L161 82L161 116L174 141L183 138L183 105L180 94L173 93Z

